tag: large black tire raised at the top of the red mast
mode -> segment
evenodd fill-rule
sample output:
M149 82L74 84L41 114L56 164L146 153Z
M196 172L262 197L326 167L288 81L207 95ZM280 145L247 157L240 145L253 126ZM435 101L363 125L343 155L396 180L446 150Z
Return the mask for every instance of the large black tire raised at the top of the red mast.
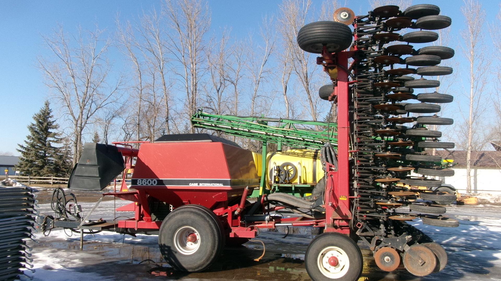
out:
M312 53L322 53L324 45L329 52L342 51L351 45L352 40L348 25L331 20L308 23L299 29L297 37L299 47Z

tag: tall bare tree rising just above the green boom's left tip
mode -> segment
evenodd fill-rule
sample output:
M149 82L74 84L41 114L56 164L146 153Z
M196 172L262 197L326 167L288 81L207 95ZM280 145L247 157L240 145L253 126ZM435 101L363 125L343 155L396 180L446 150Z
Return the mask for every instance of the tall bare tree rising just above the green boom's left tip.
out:
M166 44L181 71L174 69L184 83L186 113L195 112L206 51L205 34L210 27L210 12L205 0L166 0L162 7L171 32ZM195 129L191 127L191 132Z

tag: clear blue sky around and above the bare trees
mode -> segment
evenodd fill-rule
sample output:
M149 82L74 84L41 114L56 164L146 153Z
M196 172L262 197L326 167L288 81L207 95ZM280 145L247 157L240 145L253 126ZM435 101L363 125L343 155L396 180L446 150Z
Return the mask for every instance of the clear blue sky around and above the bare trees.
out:
M316 4L320 1L314 0ZM340 1L342 2L342 1ZM481 1L492 18L499 10L495 0ZM278 9L278 0L209 0L212 11L212 28L231 27L233 35L244 36L258 28L262 17ZM442 14L453 19L451 34L457 36L463 27L460 0L414 1L433 3L441 7ZM36 68L38 55L46 53L41 34L51 34L57 23L67 31L78 25L113 30L115 17L132 19L143 9L159 6L158 1L106 0L106 1L0 1L0 151L17 153L17 143L28 134L26 126L32 115L43 105L48 89L41 72ZM347 1L346 6L357 11L367 11L367 0ZM358 12L357 12L358 13ZM458 42L460 43L460 42ZM460 51L456 49L456 56ZM120 63L120 62L118 62Z

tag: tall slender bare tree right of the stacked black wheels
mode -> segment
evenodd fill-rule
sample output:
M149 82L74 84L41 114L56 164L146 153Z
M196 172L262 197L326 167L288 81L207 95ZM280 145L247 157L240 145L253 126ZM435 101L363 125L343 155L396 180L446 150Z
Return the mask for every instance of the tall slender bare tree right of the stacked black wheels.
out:
M463 39L462 51L469 62L469 96L468 113L465 119L466 140L466 192L471 192L471 151L474 138L481 133L478 129L482 113L482 93L489 69L489 59L483 48L485 10L477 0L464 0L461 13L465 18L465 29L461 30ZM463 115L464 116L464 115Z

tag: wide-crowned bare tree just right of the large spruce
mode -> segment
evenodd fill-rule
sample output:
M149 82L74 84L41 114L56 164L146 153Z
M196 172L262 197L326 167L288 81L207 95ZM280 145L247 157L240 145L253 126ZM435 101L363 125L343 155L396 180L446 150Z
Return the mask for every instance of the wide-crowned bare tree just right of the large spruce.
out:
M107 51L112 44L105 30L93 31L79 28L67 34L60 25L52 36L44 36L45 45L52 55L38 58L46 85L61 106L62 113L71 123L73 135L73 164L81 155L83 132L96 112L118 100L124 84L119 76L109 77L111 63Z

